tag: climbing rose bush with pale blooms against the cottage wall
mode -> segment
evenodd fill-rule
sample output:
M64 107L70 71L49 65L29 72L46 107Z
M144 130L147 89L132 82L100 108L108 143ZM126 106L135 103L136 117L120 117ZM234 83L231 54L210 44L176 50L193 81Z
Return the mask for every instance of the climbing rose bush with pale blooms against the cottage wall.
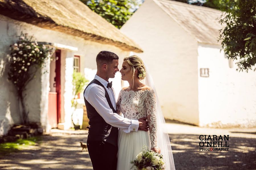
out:
M39 68L46 65L46 61L52 54L52 49L43 44L38 44L33 36L23 34L18 41L10 45L8 79L17 89L18 100L22 107L22 123L28 123L28 111L25 108L24 94L27 84L35 78Z

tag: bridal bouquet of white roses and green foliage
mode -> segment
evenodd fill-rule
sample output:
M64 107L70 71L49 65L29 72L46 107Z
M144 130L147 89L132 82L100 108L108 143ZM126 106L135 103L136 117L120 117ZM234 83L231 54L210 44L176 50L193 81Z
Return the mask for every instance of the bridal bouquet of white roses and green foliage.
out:
M139 170L165 169L163 155L149 150L147 146L142 147L142 151L137 155L137 159L131 161L131 164L132 168Z

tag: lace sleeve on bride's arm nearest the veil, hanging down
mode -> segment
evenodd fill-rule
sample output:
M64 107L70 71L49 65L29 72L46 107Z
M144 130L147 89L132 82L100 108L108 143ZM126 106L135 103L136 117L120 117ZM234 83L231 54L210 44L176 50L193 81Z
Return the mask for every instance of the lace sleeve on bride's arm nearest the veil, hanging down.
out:
M151 148L157 146L157 122L156 122L156 99L154 91L148 90L146 93L146 112L149 125Z

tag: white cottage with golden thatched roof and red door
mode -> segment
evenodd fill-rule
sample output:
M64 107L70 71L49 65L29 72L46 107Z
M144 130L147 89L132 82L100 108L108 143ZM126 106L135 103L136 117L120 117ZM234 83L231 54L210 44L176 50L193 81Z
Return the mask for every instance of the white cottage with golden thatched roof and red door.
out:
M0 0L0 135L20 123L18 100L13 84L7 81L9 45L23 33L51 44L59 59L49 61L28 84L26 106L30 122L45 129L71 126L72 74L74 69L91 80L96 73L96 56L101 50L122 58L140 47L79 0ZM48 71L46 74L42 74ZM122 83L116 74L113 86L118 95ZM83 95L80 95L83 103ZM80 109L80 115L83 110Z

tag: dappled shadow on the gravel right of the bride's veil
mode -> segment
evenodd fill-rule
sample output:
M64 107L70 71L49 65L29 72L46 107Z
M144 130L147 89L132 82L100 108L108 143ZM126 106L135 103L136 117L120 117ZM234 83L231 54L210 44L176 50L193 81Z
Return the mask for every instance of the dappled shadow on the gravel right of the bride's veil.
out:
M256 139L229 136L228 151L199 151L199 135L169 137L176 170L256 169Z

